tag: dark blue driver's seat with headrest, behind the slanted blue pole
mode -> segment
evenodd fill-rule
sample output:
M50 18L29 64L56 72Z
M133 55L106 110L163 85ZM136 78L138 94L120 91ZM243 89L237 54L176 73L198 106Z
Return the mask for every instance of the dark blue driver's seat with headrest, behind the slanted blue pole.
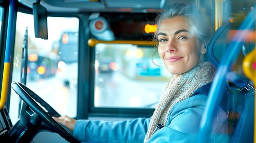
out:
M207 44L207 56L216 68L227 49L229 40L240 24L241 22L231 22L220 26ZM255 89L252 81L242 71L243 58L253 48L252 43L244 43L238 60L226 75L229 90L228 136L231 143L253 142L254 138Z

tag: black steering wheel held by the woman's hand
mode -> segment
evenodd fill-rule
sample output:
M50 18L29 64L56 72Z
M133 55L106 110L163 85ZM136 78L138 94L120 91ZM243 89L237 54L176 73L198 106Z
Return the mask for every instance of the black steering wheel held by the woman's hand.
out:
M61 115L56 112L48 103L46 103L42 98L36 95L32 90L27 88L24 84L21 84L18 81L13 81L11 83L11 87L13 90L20 96L20 98L27 104L27 106L34 111L38 117L41 119L40 126L43 126L46 130L56 132L64 139L69 141L70 143L80 143L76 140L67 130L65 130L58 122L56 122L52 117L60 117ZM40 103L48 112L46 112L41 106L38 105ZM22 107L21 113L27 112L22 111L24 108ZM28 113L27 113L28 114ZM22 116L22 115L20 115ZM30 116L29 116L30 117Z

